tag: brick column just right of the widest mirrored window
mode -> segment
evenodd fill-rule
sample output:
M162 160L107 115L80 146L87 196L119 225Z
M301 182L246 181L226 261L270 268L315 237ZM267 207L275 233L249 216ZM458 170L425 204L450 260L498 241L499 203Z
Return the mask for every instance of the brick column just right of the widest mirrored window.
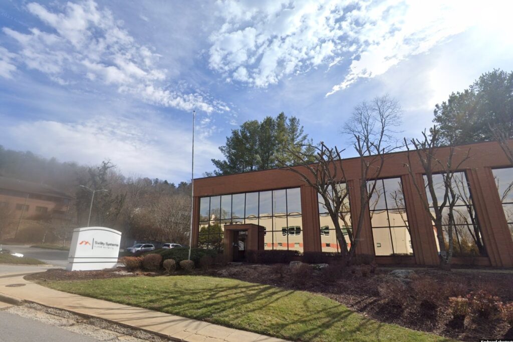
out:
M321 252L321 227L317 191L308 185L301 186L301 213L303 220L303 251Z

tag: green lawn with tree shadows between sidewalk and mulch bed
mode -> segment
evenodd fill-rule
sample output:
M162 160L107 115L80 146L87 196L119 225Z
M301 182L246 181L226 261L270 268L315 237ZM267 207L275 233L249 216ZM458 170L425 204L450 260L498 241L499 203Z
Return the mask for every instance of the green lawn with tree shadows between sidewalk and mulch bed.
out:
M447 340L379 323L321 295L235 279L161 276L52 281L42 285L291 340Z

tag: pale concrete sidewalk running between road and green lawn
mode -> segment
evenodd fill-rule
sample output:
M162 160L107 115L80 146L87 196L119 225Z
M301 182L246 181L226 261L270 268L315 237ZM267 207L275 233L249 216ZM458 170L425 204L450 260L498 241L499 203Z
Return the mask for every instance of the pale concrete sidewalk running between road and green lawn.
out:
M23 286L18 286L22 285ZM8 285L15 285L10 287ZM0 277L2 295L32 301L48 307L94 316L115 323L143 329L188 342L278 342L282 339L210 324L204 321L174 316L142 308L116 304L106 300L65 293L40 286L23 279L23 275Z

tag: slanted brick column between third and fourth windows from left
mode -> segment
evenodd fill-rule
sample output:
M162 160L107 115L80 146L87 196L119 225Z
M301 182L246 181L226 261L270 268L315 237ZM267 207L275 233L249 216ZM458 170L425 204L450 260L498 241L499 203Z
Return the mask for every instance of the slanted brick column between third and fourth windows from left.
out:
M416 174L415 176L417 184L422 191L420 195L426 198L422 174ZM417 265L438 265L437 243L431 217L426 212L412 177L410 175L403 175L401 183L403 185L404 204L406 205L406 214L408 215L408 226L410 228L415 262Z

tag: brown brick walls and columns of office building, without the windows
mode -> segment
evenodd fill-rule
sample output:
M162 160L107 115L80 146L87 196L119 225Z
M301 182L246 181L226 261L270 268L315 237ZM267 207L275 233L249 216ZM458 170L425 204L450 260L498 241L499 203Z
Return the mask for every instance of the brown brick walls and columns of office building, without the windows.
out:
M510 140L509 145L513 148L513 140ZM477 256L471 259L455 257L453 262L455 264L471 263L483 266L513 267L513 240L492 173L492 169L511 167L511 165L509 165L504 152L495 142L458 146L454 157L455 165L458 164L457 159L462 158L469 149L471 158L458 171L465 172L466 179L470 185L472 203L479 220L487 256ZM441 148L437 152L437 158L443 160L447 158L448 154L448 148ZM412 153L411 157L413 161L411 167L416 173L417 182L422 184L422 167L416 163L417 156L415 153ZM413 256L380 256L377 260L383 264L437 265L437 241L433 234L433 226L429 215L425 212L422 202L418 198L419 195L405 164L407 164L406 152L387 155L380 177L401 178L411 232L411 245L415 253ZM358 158L344 159L343 165L346 180L349 184L349 199L353 222L358 219L361 210L367 212L364 215L365 222L362 228L363 231L360 234L357 253L374 254L368 208L361 208L359 204L360 160ZM298 187L301 189L304 251L321 251L317 193L314 189L307 186L297 174L283 169L195 179L193 245L198 242L201 197ZM425 196L425 194L423 195Z

